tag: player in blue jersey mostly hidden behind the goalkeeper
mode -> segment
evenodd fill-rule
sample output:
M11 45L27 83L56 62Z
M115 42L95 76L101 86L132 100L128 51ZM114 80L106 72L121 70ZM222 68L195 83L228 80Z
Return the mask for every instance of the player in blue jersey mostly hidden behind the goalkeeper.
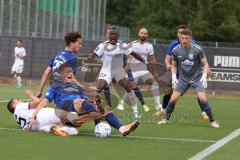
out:
M173 49L180 44L180 36L181 36L181 32L186 29L187 26L186 25L179 25L177 26L177 39L174 39L170 42L169 46L168 46L168 49L167 49L167 54L166 54L166 57L165 57L165 65L166 65L166 68L168 70L171 69L171 57L173 55ZM191 41L192 44L196 44L196 42L194 40ZM208 71L208 73L211 72L210 70ZM178 73L177 73L177 78L178 78ZM166 93L164 96L163 96L163 104L162 104L162 107L163 109L165 110L167 108L167 105L169 103L169 100L171 98L171 95L173 93L173 90L172 90L172 80L169 81L170 82L170 88L168 89L168 93ZM201 103L198 99L198 104L200 106L200 109L202 111L202 117L203 119L205 120L208 120L208 116L206 114L206 112L203 110L203 107L201 106ZM163 114L163 112L156 112L155 113L157 116L161 116Z

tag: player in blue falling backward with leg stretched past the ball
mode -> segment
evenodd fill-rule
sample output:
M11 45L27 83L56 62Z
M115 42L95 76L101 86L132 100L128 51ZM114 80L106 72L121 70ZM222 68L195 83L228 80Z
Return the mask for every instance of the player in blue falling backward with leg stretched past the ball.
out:
M46 93L45 98L37 106L29 126L34 124L35 117L38 111L47 106L49 102L54 100L54 103L59 109L69 112L76 112L78 114L88 113L93 119L104 117L105 120L115 129L117 129L123 136L128 135L130 132L138 127L139 122L122 125L117 117L111 112L109 107L104 108L104 113L100 113L100 109L88 101L81 87L75 83L73 79L73 70L65 64L59 68L60 80L51 85ZM100 111L99 111L100 110Z

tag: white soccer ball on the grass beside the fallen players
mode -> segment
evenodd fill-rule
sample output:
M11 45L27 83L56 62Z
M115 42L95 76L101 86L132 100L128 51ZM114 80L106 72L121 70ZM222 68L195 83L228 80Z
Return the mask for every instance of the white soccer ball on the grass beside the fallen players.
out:
M111 134L111 127L108 123L101 122L95 126L96 137L107 138Z

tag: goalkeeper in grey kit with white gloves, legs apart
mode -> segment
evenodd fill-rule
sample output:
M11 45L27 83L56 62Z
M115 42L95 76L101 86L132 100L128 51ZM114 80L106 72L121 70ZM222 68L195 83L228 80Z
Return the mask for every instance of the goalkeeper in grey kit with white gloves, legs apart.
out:
M166 115L159 124L167 124L175 108L177 100L184 93L193 87L197 92L197 97L209 117L210 125L219 128L219 124L214 120L210 105L205 94L207 88L207 72L209 70L206 55L197 44L192 44L192 31L189 28L182 30L180 36L181 44L175 47L172 57L172 86L173 94L167 105ZM203 67L203 70L201 69ZM177 69L179 79L177 79Z

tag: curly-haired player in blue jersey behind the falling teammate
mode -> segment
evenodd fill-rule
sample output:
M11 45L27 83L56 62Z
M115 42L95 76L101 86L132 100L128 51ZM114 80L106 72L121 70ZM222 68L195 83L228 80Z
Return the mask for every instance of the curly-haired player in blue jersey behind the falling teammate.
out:
M61 64L68 63L73 69L73 74L76 75L77 57L76 54L82 47L81 34L79 32L70 32L64 36L66 47L63 51L57 52L49 61L48 67L45 69L40 89L37 92L37 97L41 97L43 88L47 82L49 74L53 73L54 81L59 80L58 68Z

